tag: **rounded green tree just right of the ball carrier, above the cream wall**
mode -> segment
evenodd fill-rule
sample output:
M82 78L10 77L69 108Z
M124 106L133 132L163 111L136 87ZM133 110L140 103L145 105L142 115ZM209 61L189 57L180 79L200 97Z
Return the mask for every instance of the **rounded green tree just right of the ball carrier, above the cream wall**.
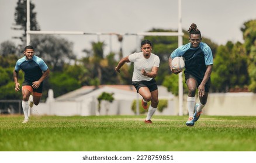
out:
M213 91L227 92L248 85L247 55L240 42L228 41L217 49L211 75Z

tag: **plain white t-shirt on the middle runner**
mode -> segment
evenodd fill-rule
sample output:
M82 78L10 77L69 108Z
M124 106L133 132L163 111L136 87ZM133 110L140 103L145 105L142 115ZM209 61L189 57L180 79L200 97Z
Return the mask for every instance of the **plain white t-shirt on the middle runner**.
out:
M143 52L135 52L128 56L130 62L134 62L133 68L133 82L136 81L150 81L152 77L147 77L141 74L141 69L150 73L153 67L159 67L160 59L157 55L151 53L150 58L144 58Z

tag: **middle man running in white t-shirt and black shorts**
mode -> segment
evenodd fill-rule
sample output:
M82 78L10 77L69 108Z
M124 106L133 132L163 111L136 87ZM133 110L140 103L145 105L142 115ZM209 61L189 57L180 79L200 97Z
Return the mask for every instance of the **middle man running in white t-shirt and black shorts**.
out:
M157 110L158 105L158 89L154 78L157 76L160 59L151 51L152 43L149 40L143 40L141 42L141 52L135 52L122 58L115 68L116 72L120 72L124 63L134 63L132 84L137 93L142 96L142 107L147 109L147 102L151 101L145 123L152 123L151 117Z

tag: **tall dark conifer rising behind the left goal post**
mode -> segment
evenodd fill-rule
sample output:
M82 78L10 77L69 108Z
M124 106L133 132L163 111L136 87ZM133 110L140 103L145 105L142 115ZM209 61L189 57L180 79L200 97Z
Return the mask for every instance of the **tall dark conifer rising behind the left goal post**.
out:
M23 36L19 37L20 40L23 42L26 37L27 31L27 1L26 0L18 0L17 6L15 8L15 24L20 26L20 29L24 31ZM36 12L34 12L35 5L30 1L30 30L40 30L39 24L36 20ZM19 30L14 28L15 30Z

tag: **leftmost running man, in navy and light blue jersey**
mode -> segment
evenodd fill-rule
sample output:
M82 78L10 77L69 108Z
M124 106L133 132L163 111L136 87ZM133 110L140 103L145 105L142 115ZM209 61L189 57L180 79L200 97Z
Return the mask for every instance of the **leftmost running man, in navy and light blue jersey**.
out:
M50 70L43 59L34 55L34 48L30 45L24 49L24 55L20 58L13 70L13 79L15 82L15 91L19 91L18 82L19 70L25 73L25 80L22 83L22 108L25 119L22 123L29 122L29 107L33 104L38 105L43 93L43 80L49 75Z

